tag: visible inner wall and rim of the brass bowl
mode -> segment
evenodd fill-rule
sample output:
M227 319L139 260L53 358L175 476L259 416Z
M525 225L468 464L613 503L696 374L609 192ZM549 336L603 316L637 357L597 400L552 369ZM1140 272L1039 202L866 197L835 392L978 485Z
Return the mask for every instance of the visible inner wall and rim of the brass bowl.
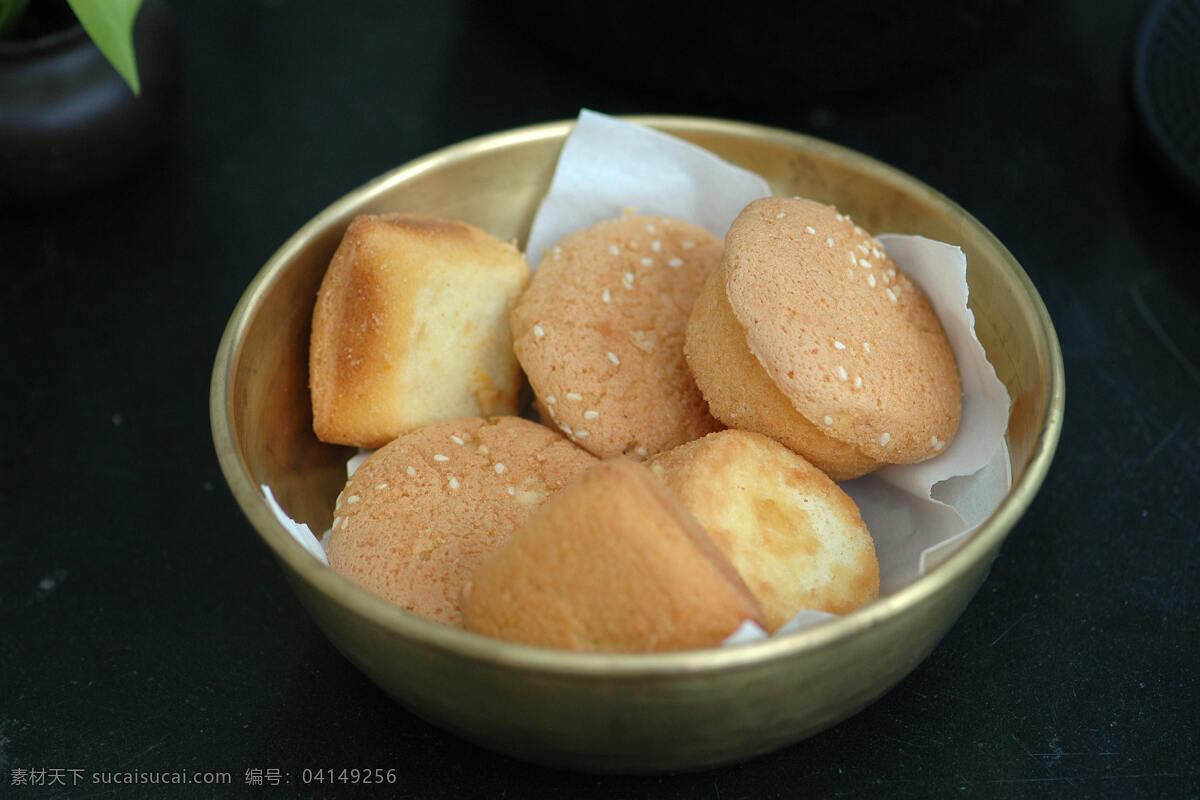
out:
M962 576L972 576L967 582L982 579L1000 542L1031 501L1057 444L1063 405L1062 357L1037 291L983 225L919 181L827 142L724 120L631 119L757 172L776 194L832 203L872 233L920 234L961 246L967 254L970 305L978 337L1013 398L1007 433L1013 489L958 552L886 601L818 628L720 655L706 651L599 657L488 640L406 614L317 564L275 521L259 487L269 485L288 515L314 531L330 525L350 451L316 439L307 389L310 318L329 259L355 215L384 211L464 219L523 243L571 124L532 126L425 156L337 200L270 259L226 330L211 389L214 439L222 469L254 528L304 588L301 595L336 606L337 619L395 638L421 639L490 666L536 669L542 676L551 672L593 678L601 673L695 674L698 669L744 666L829 646L905 614L940 585ZM958 610L953 613L956 616ZM953 619L946 620L944 626L950 622ZM348 655L362 661L353 652ZM377 667L376 674L380 670L386 667ZM893 674L888 680L895 679ZM882 691L864 687L859 696Z

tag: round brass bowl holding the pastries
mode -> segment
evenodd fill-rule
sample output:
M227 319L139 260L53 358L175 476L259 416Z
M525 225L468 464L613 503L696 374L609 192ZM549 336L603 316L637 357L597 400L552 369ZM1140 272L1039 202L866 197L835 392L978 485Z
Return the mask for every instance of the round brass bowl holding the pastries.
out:
M980 341L1008 386L1013 488L920 579L828 624L761 643L654 655L532 648L401 610L319 565L260 485L316 530L332 519L348 450L317 441L308 325L322 275L358 213L419 211L523 242L570 121L457 144L350 192L293 235L246 289L217 351L211 422L234 497L317 624L413 712L486 747L589 771L714 766L810 736L911 672L978 590L1042 485L1062 427L1062 354L1040 297L979 222L919 181L811 137L742 122L631 118L757 172L776 194L838 205L874 231L923 234L967 254Z

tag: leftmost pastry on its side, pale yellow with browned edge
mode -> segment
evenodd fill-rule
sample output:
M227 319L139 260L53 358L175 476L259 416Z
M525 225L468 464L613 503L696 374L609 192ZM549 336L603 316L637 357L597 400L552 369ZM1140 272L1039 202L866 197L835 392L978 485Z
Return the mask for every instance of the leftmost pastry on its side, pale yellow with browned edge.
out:
M515 414L516 247L463 222L350 222L317 294L308 380L317 438L378 447L437 420Z

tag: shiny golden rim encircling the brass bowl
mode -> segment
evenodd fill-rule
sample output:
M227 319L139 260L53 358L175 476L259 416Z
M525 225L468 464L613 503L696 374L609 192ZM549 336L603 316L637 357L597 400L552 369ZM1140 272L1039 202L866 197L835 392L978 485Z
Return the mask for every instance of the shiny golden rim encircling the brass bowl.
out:
M1031 449L1026 469L1013 483L1000 507L980 523L976 531L944 561L908 585L880 597L863 608L785 636L768 637L736 646L672 652L576 652L505 642L440 625L370 594L320 564L304 549L275 518L259 487L244 469L234 441L233 420L229 414L229 392L240 355L239 344L253 319L253 312L262 303L280 273L306 246L308 240L314 234L344 218L355 207L397 184L464 157L478 156L490 150L503 150L530 140L563 140L576 122L574 119L566 119L476 136L413 158L350 190L289 236L244 290L229 317L217 348L209 391L210 425L226 482L242 512L276 558L324 597L340 603L346 609L394 634L496 666L612 679L737 669L788 658L798 651L814 651L834 646L883 624L895 614L901 614L906 609L920 604L946 584L955 582L977 563L998 552L1002 541L1028 509L1045 480L1062 432L1066 404L1066 372L1057 333L1033 282L1008 248L985 225L941 192L895 167L844 145L786 128L720 118L638 114L623 115L620 119L667 133L695 132L764 140L823 155L882 178L886 182L907 192L922 196L926 203L940 207L947 216L976 228L982 234L984 240L997 251L1002 265L1012 272L1024 289L1024 300L1032 306L1033 315L1040 323L1034 331L1034 338L1040 339L1039 344L1048 361L1044 365L1045 390L1042 398L1045 420Z

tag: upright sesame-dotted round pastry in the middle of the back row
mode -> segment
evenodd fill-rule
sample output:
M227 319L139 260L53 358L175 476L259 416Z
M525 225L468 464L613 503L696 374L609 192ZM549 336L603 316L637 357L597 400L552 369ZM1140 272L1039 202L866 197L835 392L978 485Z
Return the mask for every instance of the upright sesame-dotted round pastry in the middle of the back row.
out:
M550 251L511 317L541 419L601 457L646 458L719 429L683 339L720 254L701 228L636 215Z

